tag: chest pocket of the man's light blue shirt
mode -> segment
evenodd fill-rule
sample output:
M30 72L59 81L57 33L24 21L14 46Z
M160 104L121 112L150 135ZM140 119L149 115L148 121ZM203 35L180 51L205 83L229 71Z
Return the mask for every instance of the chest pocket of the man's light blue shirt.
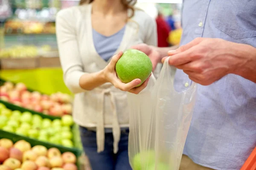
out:
M255 0L216 0L215 2L218 3L214 16L216 28L235 40L254 37L251 41L255 42Z

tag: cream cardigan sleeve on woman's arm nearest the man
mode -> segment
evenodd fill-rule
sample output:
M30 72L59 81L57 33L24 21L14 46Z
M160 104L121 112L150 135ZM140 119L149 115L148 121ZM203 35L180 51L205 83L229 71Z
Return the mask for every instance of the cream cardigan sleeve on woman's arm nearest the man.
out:
M157 23L152 17L148 18L147 29L145 29L145 31L146 38L144 43L147 45L157 46Z

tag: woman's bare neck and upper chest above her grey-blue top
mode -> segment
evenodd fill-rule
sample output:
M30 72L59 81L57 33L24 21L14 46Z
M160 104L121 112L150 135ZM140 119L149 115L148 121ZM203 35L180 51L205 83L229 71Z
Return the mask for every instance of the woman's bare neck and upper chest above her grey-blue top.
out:
M92 3L93 13L114 15L125 11L121 0L94 0Z

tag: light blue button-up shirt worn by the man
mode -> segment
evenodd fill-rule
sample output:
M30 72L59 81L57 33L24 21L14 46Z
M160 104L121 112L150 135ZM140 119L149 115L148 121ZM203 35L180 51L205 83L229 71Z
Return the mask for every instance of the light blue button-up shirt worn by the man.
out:
M184 0L182 27L181 45L211 37L256 47L256 0ZM177 91L190 83L178 70ZM255 146L256 84L229 74L212 85L198 85L183 153L205 167L239 170Z

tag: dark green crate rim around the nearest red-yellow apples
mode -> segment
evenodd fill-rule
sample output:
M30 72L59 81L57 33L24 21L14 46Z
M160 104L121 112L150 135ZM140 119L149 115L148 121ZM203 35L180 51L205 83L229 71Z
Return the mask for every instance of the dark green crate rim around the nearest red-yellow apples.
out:
M14 143L19 141L19 140L25 140L26 142L29 142L32 147L35 146L35 145L43 145L43 146L47 147L47 149L49 149L51 147L56 147L61 151L61 153L64 153L64 152L74 153L76 155L76 158L77 158L76 165L78 167L78 170L80 170L79 157L81 156L81 150L78 150L78 149L75 149L75 148L62 147L60 145L50 144L50 143L47 143L47 142L38 141L36 139L31 139L31 138L28 138L26 136L20 136L20 135L17 135L15 133L10 133L10 132L0 130L0 139L3 139L3 138L10 139Z

